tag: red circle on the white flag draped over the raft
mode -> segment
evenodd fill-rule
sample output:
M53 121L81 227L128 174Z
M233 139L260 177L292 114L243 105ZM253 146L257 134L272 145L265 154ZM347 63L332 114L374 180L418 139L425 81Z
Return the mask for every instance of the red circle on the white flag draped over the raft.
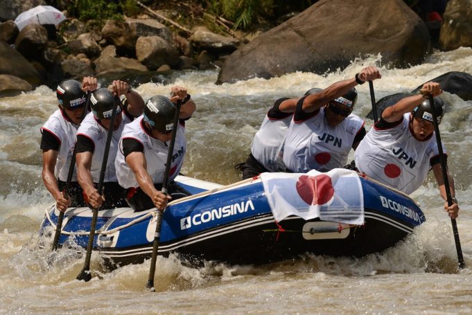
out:
M334 196L333 182L328 175L301 175L297 181L298 195L309 205L326 204Z

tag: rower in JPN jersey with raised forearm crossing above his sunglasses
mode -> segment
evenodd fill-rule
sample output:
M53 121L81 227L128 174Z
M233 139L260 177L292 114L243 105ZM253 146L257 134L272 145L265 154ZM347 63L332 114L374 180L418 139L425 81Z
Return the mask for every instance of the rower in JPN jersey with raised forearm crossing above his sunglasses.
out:
M283 163L290 172L327 172L347 164L349 152L356 150L366 133L364 120L352 114L355 87L378 78L378 69L367 66L353 78L322 91L307 91L297 100L283 147Z

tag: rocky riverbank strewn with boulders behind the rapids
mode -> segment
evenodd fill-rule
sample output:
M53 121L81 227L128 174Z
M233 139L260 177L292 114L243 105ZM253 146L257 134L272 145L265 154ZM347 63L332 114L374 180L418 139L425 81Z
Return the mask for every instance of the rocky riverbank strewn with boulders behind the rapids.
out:
M18 1L8 0L6 7L10 2ZM28 3L23 2L23 6ZM323 29L324 19L332 20L331 15L316 15L322 12L321 8L341 15L342 10L330 7L337 6L336 1L313 1L315 4L310 8L313 13L310 14L316 17L320 28L311 30L308 26L304 32L300 29L293 31L292 24L297 21L297 16L302 16L294 11L272 23L261 20L254 33L234 30L233 22L211 15L196 1L161 1L159 6L152 6L155 1L143 1L148 5L135 0L128 2L134 3L138 10L134 10L134 16L123 19L89 19L84 22L68 17L57 28L47 24L29 24L21 31L14 21L4 21L0 24L0 96L31 91L42 84L53 89L66 78L80 80L86 75L95 75L103 80L120 78L139 84L164 83L172 80L173 71L186 70L216 69L220 71L219 83L253 77L272 78L292 71L322 74L329 69L342 69L356 57L381 52L384 55L381 64L411 66L421 64L425 55L430 53L430 46L442 48L442 45L453 50L461 45L468 46L463 41L472 38L464 36L472 31L472 27L461 22L472 16L472 9L464 7L460 0L448 1L444 17L439 16L441 21L434 15L436 20L426 23L402 0L389 0L387 6L397 15L393 20L403 19L401 25L408 24L408 21L413 24L414 20L414 26L397 30L379 20L372 29L370 18L364 21L364 18L357 17L360 19L356 21L358 37L350 35L351 26L345 26L334 34L330 31L333 21ZM361 0L350 0L343 6L347 8L348 5L349 8L365 7ZM344 11L351 15L351 9L344 8ZM305 15L306 12L308 10L304 11ZM68 13L64 13L67 16ZM372 15L372 12L367 13L369 17ZM290 17L294 19L286 21ZM273 31L274 26L286 23L287 26L280 28L285 33ZM303 19L299 23L310 24ZM437 42L439 39L436 38L439 29L442 42ZM267 30L272 32L265 32ZM428 39L428 30L430 34L432 31L438 34L434 35L436 37L430 35L431 39ZM329 38L326 38L326 32L331 34ZM300 36L301 33L310 37ZM311 37L316 33L320 36ZM399 37L399 33L403 35ZM253 41L261 37L264 39ZM247 45L252 42L256 44ZM359 46L359 42L368 42L369 45ZM340 45L342 49L339 49ZM252 57L247 57L250 53Z

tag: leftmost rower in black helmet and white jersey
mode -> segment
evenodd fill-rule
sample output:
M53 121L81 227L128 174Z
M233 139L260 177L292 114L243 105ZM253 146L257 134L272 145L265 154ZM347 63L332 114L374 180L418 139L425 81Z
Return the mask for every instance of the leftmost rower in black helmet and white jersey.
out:
M76 80L60 82L56 89L59 109L41 128L42 179L60 211L66 210L68 206L85 205L76 174L73 174L69 186L69 199L64 198L62 190L67 182L77 128L82 121L86 92L93 91L96 86L97 81L93 77L83 78L82 84Z

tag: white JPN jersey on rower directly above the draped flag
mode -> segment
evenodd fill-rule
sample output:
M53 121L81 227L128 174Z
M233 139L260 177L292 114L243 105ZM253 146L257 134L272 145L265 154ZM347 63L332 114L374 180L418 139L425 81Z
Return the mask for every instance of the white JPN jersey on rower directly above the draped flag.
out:
M324 107L311 118L301 122L292 120L283 148L283 163L290 172L342 168L362 127L364 120L354 114L330 127L324 118Z

